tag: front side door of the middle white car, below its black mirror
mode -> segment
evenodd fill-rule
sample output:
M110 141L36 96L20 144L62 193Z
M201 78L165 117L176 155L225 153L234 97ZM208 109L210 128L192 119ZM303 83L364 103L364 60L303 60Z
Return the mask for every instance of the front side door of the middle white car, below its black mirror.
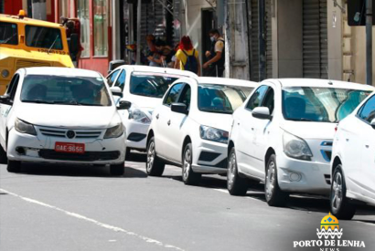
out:
M184 103L187 105L187 110L190 108L191 99L191 87L185 84L184 89L182 89L181 94L177 100L178 103ZM185 138L183 132L184 126L187 122L188 115L171 111L169 117L169 133L166 135L166 157L175 162L181 162L182 154L182 143Z

